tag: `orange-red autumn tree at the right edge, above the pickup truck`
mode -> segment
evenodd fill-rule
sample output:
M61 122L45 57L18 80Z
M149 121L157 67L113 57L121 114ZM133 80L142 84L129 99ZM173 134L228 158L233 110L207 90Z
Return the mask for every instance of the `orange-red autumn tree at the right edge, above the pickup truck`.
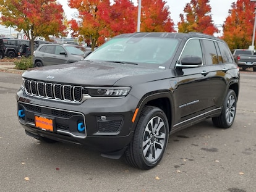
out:
M250 0L233 2L223 25L223 40L230 49L248 49L252 44L255 6Z

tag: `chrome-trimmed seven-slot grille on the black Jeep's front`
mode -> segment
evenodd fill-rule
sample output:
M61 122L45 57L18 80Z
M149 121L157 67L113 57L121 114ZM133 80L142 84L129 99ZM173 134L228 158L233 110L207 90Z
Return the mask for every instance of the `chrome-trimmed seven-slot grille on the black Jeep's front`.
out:
M35 80L25 80L25 90L27 94L40 98L56 99L62 101L82 101L82 86L62 85L59 83L49 83Z

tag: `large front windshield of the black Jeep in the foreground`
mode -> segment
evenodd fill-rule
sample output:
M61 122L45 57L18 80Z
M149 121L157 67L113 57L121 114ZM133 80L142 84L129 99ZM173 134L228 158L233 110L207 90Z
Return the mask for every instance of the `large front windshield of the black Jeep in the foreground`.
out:
M173 57L179 40L173 38L114 38L92 52L85 60L164 64Z

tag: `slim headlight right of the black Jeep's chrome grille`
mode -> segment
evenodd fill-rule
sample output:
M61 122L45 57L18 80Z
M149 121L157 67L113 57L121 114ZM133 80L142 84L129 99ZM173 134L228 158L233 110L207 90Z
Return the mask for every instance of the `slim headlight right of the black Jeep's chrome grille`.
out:
M85 87L85 92L87 92L86 94L89 94L92 97L125 97L129 91L130 87Z

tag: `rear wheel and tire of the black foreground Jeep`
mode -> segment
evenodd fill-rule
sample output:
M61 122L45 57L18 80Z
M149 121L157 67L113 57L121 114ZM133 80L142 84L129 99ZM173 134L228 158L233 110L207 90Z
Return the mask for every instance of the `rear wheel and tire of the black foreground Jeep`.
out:
M223 109L219 117L213 117L213 125L219 128L229 128L236 117L236 93L229 90L224 100Z

